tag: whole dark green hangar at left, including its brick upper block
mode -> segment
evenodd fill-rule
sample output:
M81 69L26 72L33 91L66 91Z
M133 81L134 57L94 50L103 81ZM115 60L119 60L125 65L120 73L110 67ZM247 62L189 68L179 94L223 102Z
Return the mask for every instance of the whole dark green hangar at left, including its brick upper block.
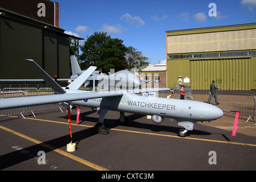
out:
M40 78L24 59L35 60L52 78L69 78L70 37L80 39L59 28L57 2L1 0L0 79Z

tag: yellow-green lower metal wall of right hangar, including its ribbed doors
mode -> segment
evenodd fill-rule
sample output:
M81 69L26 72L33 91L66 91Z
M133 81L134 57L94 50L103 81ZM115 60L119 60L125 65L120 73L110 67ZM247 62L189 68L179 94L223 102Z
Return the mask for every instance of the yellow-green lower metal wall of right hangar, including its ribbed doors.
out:
M221 90L256 89L256 56L226 59L173 59L167 61L168 87L178 76L188 76L193 90L209 90L212 80Z

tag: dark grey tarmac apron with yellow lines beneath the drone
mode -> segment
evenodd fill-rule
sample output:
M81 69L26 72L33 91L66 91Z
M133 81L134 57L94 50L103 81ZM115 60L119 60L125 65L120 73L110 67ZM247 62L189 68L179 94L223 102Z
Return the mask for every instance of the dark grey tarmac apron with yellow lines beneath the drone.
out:
M234 137L235 114L225 113L210 123L197 122L194 130L181 138L177 134L181 127L175 120L165 118L157 125L145 115L125 116L131 122L129 126L120 125L119 112L109 110L104 119L109 134L104 135L93 130L99 118L95 111L81 107L77 125L76 110L72 110L74 152L67 152L71 137L64 110L38 111L35 117L25 115L26 119L2 117L0 170L126 171L122 176L126 179L132 177L128 171L141 171L144 176L140 177L149 179L154 171L256 170L253 119L246 122L248 117L240 115Z

